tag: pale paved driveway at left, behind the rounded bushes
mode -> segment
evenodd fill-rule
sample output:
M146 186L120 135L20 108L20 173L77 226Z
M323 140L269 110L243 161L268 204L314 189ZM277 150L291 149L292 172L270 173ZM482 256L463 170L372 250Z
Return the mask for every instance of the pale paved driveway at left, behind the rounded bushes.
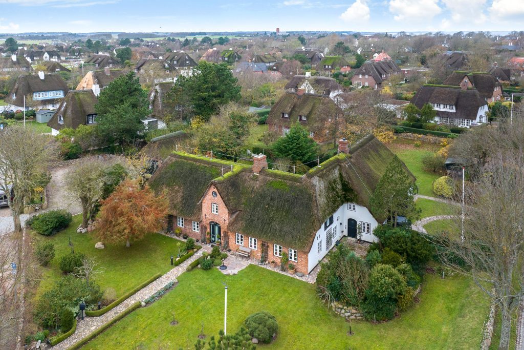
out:
M73 215L82 213L80 200L73 200L71 196L65 191L65 175L71 166L71 164L68 164L51 169L51 181L46 187L48 203L47 210L66 209ZM22 226L24 226L26 220L29 217L40 213L42 213L42 211L37 211L34 214L20 215ZM0 234L5 234L6 232L11 232L13 230L14 224L11 210L8 207L0 208Z

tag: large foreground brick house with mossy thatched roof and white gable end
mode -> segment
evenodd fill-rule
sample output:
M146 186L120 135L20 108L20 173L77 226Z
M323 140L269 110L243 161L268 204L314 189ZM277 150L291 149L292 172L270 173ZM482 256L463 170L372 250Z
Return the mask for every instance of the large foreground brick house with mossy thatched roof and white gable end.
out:
M373 229L384 220L367 207L394 155L373 135L352 147L341 140L339 150L304 175L269 170L265 155L249 166L174 152L150 185L168 193L168 231L262 261L286 252L308 274L338 240L356 238L358 224L363 240L377 241Z

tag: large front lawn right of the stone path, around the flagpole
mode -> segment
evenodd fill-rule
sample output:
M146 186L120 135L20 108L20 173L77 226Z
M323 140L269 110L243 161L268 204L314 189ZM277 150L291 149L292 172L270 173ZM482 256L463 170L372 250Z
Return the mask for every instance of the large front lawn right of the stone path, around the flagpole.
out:
M202 324L206 340L265 310L276 316L279 332L267 349L472 349L478 348L488 301L471 280L427 275L420 302L387 323L349 323L322 305L315 286L250 265L238 275L216 269L183 273L179 285L154 304L138 309L86 344L85 349L192 349ZM173 318L178 325L171 326Z

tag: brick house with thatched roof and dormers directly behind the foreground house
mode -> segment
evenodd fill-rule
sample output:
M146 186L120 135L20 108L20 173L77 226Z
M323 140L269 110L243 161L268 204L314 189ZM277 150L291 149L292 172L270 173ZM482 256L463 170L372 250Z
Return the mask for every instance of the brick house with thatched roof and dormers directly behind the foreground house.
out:
M343 112L329 94L307 93L305 89L286 91L273 105L266 123L269 130L285 135L299 122L316 142L326 141L329 123L342 117Z

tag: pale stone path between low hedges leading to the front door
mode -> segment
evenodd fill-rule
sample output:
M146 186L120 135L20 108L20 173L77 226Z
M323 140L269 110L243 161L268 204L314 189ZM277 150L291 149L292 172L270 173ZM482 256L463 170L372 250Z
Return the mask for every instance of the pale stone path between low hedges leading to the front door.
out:
M203 249L200 249L191 258L189 258L188 260L185 260L176 268L171 269L169 272L162 275L162 277L158 278L154 282L151 282L146 287L144 287L143 289L140 289L138 292L136 292L132 296L129 296L129 298L127 298L122 303L115 306L113 309L106 312L102 316L84 317L83 320L78 320L77 330L69 338L51 347L50 349L53 349L53 350L67 349L69 346L73 345L74 343L77 343L78 341L82 340L84 337L88 336L91 332L96 330L96 328L99 328L102 325L110 322L112 319L114 319L115 316L117 316L122 311L126 310L132 304L136 303L137 301L143 301L149 298L149 296L155 294L157 291L162 289L162 287L164 287L169 282L176 281L177 278L183 272L185 272L185 269L188 267L188 265L191 262L195 261L196 259L202 256L202 251Z

